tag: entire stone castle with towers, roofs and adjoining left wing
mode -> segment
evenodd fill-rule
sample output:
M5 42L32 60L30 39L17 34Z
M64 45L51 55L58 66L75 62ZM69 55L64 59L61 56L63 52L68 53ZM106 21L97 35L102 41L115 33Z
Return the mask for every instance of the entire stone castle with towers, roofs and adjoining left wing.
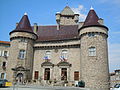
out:
M25 13L0 41L0 77L43 85L84 81L90 90L109 90L108 28L93 8L84 22L69 6L56 13L57 25L30 25Z

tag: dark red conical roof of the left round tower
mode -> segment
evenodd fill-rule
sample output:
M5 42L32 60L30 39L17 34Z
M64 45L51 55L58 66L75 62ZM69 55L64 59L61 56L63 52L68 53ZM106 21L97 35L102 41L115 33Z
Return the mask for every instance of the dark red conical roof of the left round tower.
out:
M13 30L12 32L30 32L30 33L34 33L26 13L24 14L22 19L20 20L20 22L16 26L15 30ZM10 34L12 32L10 32Z

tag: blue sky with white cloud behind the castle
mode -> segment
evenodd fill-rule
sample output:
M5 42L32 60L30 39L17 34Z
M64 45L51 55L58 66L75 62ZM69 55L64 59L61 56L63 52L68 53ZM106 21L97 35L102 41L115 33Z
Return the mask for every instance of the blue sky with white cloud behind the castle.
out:
M68 4L67 4L68 3ZM9 41L9 32L15 29L25 12L31 25L56 24L55 13L69 5L84 20L91 5L109 28L110 72L120 69L120 0L0 0L0 40Z

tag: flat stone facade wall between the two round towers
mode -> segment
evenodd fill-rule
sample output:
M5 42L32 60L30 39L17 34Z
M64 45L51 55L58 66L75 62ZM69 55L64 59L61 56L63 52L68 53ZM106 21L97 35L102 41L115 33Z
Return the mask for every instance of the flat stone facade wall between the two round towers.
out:
M79 42L79 41L76 41ZM35 44L35 46L57 46L57 45L70 45L70 44L74 44L76 43L75 41L72 42L61 42L61 43L44 43L44 44ZM62 45L61 45L62 44ZM33 80L34 80L34 72L35 71L39 71L39 77L42 77L44 79L44 68L47 67L41 67L41 64L43 62L45 62L44 60L44 56L45 56L45 52L47 50L51 51L51 59L50 62L52 64L54 64L54 67L50 67L51 68L51 79L57 79L58 81L61 81L61 68L62 67L58 67L57 64L59 62L61 62L60 56L61 56L61 52L62 50L67 50L68 51L68 58L67 58L67 62L71 64L70 67L67 67L68 69L68 80L69 81L74 81L74 71L79 71L80 73L80 48L36 48L34 51L34 65L33 65ZM49 67L49 66L48 66ZM80 77L80 75L79 75Z

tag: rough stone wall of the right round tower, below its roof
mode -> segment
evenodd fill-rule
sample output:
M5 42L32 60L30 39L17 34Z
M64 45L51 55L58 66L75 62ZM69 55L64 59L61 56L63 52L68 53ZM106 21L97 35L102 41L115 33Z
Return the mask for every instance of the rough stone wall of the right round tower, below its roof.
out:
M107 30L99 27L84 28L81 35L81 79L91 90L109 90ZM90 33L94 36L89 36ZM101 33L102 32L102 33ZM83 34L83 35L82 35ZM96 48L96 55L89 56L89 48Z

